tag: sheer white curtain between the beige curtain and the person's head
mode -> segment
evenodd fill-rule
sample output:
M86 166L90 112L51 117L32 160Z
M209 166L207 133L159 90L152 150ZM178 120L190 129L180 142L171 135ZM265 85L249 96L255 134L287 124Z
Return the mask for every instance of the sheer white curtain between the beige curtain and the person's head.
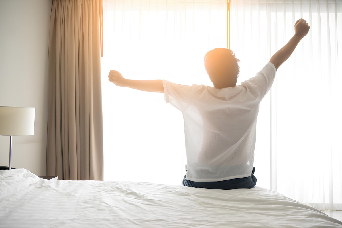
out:
M182 113L161 93L116 87L129 79L212 85L206 52L226 45L223 0L105 0L102 58L106 180L181 184L185 175Z

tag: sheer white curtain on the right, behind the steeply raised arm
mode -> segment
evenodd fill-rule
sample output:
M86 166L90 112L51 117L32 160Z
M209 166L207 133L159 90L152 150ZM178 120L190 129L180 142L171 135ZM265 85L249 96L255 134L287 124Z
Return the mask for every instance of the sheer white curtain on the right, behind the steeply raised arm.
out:
M297 19L311 26L261 103L254 166L264 186L268 176L286 196L342 210L342 1L233 0L231 9L240 81L293 36Z

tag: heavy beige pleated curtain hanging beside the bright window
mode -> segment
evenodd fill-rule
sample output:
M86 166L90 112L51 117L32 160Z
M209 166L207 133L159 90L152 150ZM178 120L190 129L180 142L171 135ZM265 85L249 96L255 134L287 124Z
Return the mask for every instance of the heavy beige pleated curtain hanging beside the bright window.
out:
M103 0L53 0L47 176L103 179L102 12Z

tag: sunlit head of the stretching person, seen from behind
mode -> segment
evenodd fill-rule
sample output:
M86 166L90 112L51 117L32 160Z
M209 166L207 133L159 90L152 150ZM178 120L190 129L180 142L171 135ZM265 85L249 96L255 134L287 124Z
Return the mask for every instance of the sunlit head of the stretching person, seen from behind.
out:
M236 86L239 61L232 50L225 48L215 48L204 56L204 66L215 88Z

